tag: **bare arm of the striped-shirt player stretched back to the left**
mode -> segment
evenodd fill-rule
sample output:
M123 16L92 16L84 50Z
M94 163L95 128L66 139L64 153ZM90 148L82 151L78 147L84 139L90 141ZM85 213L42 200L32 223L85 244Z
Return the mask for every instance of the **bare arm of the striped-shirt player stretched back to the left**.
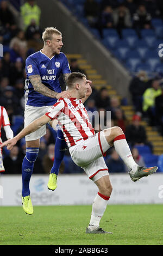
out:
M11 150L14 145L24 136L28 135L31 132L36 131L39 129L42 125L47 124L51 119L47 117L47 115L42 115L42 117L37 118L35 121L33 121L31 124L29 124L27 127L25 127L18 135L16 135L12 139L8 139L8 141L5 141L1 144L1 148L4 146L7 146L7 149Z

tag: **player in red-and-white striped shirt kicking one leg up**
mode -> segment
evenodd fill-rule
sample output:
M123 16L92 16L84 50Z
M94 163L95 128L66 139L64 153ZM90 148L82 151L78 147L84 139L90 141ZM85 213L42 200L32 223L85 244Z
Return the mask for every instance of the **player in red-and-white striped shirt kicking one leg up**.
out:
M136 164L120 127L115 126L95 133L82 100L91 92L90 83L84 74L72 73L68 77L67 84L68 91L72 95L70 99L60 98L45 115L33 121L13 139L4 142L2 147L7 145L8 149L12 149L23 136L39 129L49 121L53 126L53 120L58 119L72 160L84 169L89 179L98 187L86 233L111 233L99 227L112 192L108 168L103 158L105 152L114 145L118 155L128 167L133 181L153 174L158 167L146 168Z

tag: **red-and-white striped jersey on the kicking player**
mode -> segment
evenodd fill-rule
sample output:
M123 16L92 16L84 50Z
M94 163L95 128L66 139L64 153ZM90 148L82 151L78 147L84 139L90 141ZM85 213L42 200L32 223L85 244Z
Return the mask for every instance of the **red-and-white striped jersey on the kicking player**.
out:
M57 119L64 133L68 147L76 145L81 139L95 135L82 100L60 98L46 113L47 117Z

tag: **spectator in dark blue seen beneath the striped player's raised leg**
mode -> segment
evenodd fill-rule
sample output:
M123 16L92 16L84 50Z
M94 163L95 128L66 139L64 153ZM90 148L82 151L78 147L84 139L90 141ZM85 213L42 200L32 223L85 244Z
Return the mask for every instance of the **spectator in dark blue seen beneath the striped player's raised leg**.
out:
M109 169L109 173L124 173L126 172L123 161L120 159L120 156L117 154L114 148L111 149L110 157L107 157L106 166Z

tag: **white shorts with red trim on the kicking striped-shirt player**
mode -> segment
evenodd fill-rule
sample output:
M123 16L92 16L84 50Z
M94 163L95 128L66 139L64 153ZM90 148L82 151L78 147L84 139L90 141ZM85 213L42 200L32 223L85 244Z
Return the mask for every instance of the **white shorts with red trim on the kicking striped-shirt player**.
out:
M109 148L110 145L106 141L104 131L101 131L86 141L82 139L69 150L74 163L82 167L87 176L92 179L100 171L106 171L105 175L109 174L103 158Z

